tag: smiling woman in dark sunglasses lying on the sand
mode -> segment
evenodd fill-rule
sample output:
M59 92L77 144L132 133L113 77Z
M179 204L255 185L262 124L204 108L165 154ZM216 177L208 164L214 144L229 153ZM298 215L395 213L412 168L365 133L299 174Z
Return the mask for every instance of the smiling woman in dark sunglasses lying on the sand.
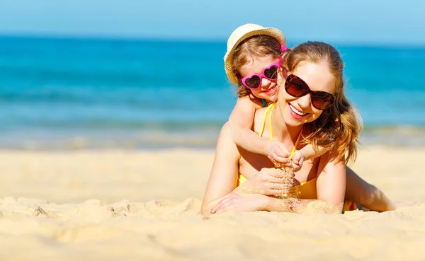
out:
M299 199L283 198L278 196L288 192L283 172L274 169L266 156L235 145L225 124L217 141L203 213L229 209L297 212L308 204L341 213L344 199L378 211L394 209L378 188L346 168L346 162L356 157L358 123L344 95L339 53L323 42L306 42L283 60L287 68L278 81L285 88L280 88L278 101L271 107L256 110L254 132L296 150L307 144L331 149L305 161L294 175L289 195ZM261 84L270 83L263 79Z

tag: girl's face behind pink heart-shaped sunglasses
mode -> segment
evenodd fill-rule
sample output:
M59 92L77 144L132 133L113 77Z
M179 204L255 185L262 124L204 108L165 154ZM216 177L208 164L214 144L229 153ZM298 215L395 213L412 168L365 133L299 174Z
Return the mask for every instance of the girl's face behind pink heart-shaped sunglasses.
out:
M262 74L263 70L268 68L271 64L279 62L279 58L274 58L271 55L266 57L252 57L250 62L244 64L244 66L239 69L239 73L242 76L242 79L246 76L251 76L252 74ZM278 81L282 77L282 69L278 69L278 79L276 81L271 81L263 77L261 80L261 85L259 88L250 89L251 93L257 98L276 101L278 98Z

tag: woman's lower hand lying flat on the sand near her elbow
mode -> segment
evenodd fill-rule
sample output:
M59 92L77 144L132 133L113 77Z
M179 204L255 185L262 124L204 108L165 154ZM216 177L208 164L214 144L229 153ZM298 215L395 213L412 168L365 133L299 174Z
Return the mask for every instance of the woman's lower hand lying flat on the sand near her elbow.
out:
M232 192L211 209L211 214L220 214L231 209L236 211L261 211L266 209L268 197L260 194Z

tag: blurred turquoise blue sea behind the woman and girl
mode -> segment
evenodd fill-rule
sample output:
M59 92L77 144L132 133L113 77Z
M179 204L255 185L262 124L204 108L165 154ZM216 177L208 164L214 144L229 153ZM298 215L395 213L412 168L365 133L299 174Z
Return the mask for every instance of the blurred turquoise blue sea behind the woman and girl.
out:
M425 46L333 45L361 143L425 145ZM0 36L0 148L214 148L236 102L225 52L225 40Z

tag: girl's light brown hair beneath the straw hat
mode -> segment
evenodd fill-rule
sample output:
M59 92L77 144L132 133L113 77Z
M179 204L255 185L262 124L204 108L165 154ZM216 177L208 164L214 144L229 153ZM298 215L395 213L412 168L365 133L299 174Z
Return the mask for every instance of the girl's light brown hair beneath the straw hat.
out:
M249 88L246 88L242 84L242 76L239 73L244 64L256 57L266 57L273 55L273 57L282 57L282 50L280 48L280 42L276 38L268 35L254 35L243 40L234 49L232 57L232 70L234 75L237 77L237 96L238 98L244 97L251 93Z

